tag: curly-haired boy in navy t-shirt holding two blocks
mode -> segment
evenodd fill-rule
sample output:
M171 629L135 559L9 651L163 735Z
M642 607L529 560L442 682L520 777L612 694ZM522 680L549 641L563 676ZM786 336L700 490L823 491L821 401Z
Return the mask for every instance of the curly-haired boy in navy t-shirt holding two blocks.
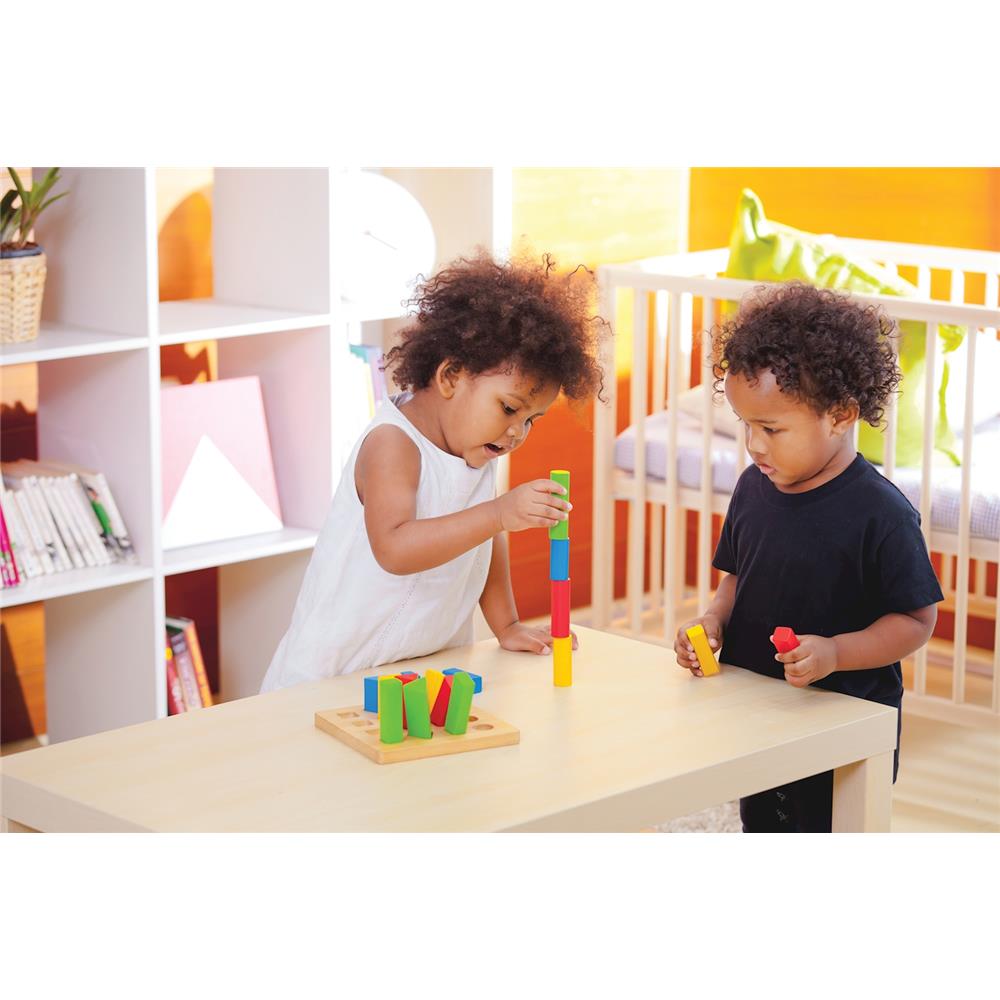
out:
M685 629L700 623L724 662L900 712L900 660L930 638L943 595L919 515L854 448L855 422L877 425L899 382L892 334L880 311L801 284L758 291L719 332L716 387L753 464L712 562L728 575L674 642L696 676ZM775 651L779 626L798 648ZM744 832L829 832L832 797L832 771L749 795Z

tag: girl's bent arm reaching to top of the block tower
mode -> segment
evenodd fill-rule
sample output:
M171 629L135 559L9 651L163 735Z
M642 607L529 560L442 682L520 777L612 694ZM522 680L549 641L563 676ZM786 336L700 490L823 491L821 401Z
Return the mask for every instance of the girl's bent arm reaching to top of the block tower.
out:
M358 453L354 482L372 552L387 573L420 573L450 562L502 530L551 527L567 517L562 487L536 479L496 500L443 517L416 516L420 452L391 426L376 427Z

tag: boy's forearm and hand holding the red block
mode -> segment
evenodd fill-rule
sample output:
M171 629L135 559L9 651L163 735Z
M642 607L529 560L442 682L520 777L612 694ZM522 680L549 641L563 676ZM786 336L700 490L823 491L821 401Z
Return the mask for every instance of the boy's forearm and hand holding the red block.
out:
M827 638L800 635L799 645L775 659L785 664L785 679L805 687L834 670L870 670L895 663L918 650L934 632L937 605L916 611L883 615L860 632L844 632Z

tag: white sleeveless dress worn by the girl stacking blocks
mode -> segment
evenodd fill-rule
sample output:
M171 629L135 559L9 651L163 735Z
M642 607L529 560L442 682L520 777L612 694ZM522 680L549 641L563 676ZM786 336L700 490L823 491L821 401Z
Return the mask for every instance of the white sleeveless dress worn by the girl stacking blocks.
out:
M362 442L381 424L399 427L420 450L418 518L453 514L496 495L496 463L471 469L432 444L400 412L409 398L386 400L355 444L261 692L472 642L493 540L434 569L395 576L375 561L365 530L354 466Z

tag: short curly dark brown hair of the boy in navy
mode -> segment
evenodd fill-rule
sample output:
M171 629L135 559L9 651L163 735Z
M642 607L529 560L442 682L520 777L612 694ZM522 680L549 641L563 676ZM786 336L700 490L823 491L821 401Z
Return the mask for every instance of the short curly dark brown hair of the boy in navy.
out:
M753 380L770 368L782 392L817 413L856 402L860 418L877 427L900 380L895 336L879 307L847 293L797 281L764 285L712 331L715 391L727 372Z

